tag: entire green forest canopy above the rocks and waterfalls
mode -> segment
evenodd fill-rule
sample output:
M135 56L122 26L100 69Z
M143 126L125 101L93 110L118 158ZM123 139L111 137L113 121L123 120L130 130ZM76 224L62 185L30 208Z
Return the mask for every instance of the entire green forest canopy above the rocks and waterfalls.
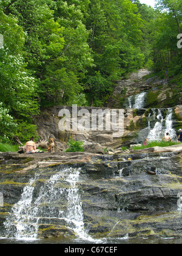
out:
M27 140L44 107L107 106L143 67L182 87L181 24L181 0L0 1L0 141Z

